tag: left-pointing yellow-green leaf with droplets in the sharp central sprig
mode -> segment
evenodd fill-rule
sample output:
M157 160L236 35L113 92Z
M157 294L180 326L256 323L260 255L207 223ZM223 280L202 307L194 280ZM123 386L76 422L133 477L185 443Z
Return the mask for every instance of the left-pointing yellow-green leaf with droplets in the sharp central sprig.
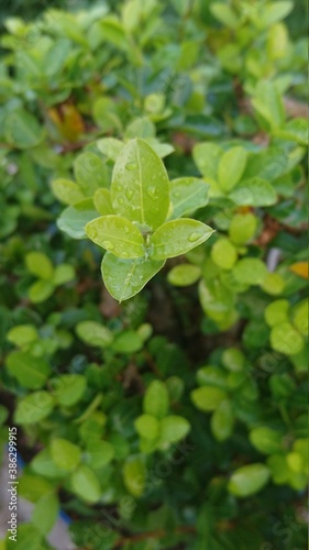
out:
M120 216L102 216L85 227L87 237L96 244L122 258L143 257L144 240L131 221Z

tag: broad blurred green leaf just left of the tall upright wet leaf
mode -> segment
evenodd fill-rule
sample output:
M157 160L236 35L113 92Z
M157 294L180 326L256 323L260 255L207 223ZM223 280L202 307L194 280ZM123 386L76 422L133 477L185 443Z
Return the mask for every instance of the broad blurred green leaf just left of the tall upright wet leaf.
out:
M92 197L99 187L108 187L108 170L98 155L81 153L74 162L74 175L84 195Z

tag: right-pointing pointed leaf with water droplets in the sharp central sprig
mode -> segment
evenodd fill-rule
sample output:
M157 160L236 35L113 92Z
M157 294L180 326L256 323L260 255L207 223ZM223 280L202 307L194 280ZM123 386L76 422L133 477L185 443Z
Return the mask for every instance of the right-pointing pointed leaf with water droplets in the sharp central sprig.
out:
M183 218L167 221L151 237L152 260L166 260L179 256L207 241L213 229L201 221Z

